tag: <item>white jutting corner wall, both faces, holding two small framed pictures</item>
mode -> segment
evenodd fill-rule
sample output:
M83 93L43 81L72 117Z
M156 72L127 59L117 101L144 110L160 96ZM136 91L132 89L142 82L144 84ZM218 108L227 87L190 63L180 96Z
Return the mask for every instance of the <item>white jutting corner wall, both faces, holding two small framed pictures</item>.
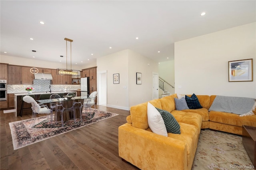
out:
M127 49L97 58L97 72L105 70L107 106L129 110L131 106L152 100L152 78L153 72L158 72L157 62ZM142 73L142 84L136 84L136 72ZM113 84L113 74L117 73L120 83Z

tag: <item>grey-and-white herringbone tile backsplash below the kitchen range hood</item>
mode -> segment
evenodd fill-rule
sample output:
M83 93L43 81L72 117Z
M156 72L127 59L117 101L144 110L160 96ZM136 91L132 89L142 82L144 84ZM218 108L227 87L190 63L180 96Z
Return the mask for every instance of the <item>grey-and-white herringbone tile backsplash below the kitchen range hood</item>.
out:
M67 91L73 91L81 88L80 84L51 84L51 80L34 80L34 84L8 84L7 93L26 93L25 88L32 87L32 92L46 92L50 91L49 86L51 85L52 92L64 91L65 87Z

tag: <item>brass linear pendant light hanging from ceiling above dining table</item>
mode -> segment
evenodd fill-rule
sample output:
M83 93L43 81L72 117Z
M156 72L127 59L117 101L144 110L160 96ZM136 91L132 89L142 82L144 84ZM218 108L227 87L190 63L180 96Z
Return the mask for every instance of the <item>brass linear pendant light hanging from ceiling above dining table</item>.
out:
M72 70L72 46L71 46L71 42L73 42L73 40L68 39L68 38L64 38L64 40L66 40L66 69L64 68L57 68L56 72L57 74L63 76L64 74L69 74L69 75L74 75L74 76L78 76L78 72L80 72L80 70ZM70 42L70 69L68 69L68 41Z

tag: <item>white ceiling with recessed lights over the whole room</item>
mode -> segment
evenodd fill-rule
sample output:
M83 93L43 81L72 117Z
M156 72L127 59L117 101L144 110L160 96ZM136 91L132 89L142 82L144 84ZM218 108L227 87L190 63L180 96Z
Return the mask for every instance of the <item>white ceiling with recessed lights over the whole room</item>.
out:
M172 60L174 42L256 22L255 0L1 0L0 8L1 55L66 63L69 38L77 64L125 49Z

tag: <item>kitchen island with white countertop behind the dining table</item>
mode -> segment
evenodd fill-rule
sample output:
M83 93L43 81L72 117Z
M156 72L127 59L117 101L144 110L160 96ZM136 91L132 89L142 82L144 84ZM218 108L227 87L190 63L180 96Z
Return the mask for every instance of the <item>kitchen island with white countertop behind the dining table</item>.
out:
M34 92L31 94L28 93L15 93L14 94L14 109L15 109L15 115L16 117L20 115L20 109L22 105L22 100L21 97L25 95L35 95L35 100L39 100L39 97L41 94L60 94L60 96L66 95L68 93L74 93L77 96L76 91L59 91L59 92ZM31 104L24 102L23 108L30 108ZM32 115L32 110L23 110L22 114L31 114Z

